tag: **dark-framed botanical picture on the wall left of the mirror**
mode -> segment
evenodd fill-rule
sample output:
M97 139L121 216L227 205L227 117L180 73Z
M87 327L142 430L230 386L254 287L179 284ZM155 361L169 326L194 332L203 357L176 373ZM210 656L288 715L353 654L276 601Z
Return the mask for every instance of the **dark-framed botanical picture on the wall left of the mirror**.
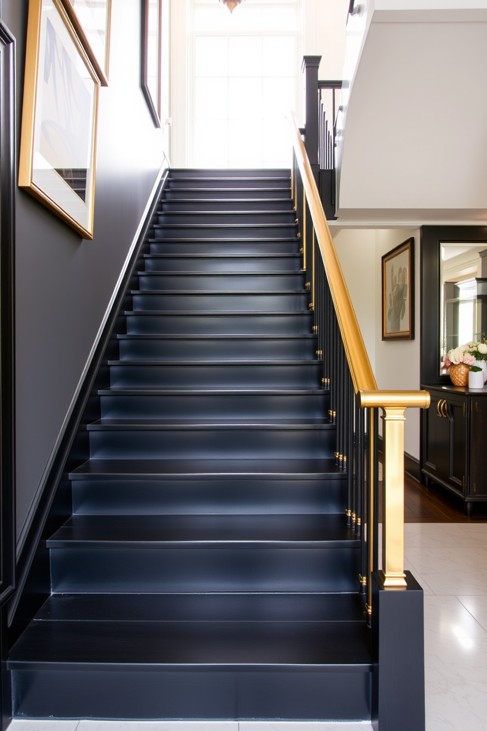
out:
M414 340L414 239L382 257L382 339Z

